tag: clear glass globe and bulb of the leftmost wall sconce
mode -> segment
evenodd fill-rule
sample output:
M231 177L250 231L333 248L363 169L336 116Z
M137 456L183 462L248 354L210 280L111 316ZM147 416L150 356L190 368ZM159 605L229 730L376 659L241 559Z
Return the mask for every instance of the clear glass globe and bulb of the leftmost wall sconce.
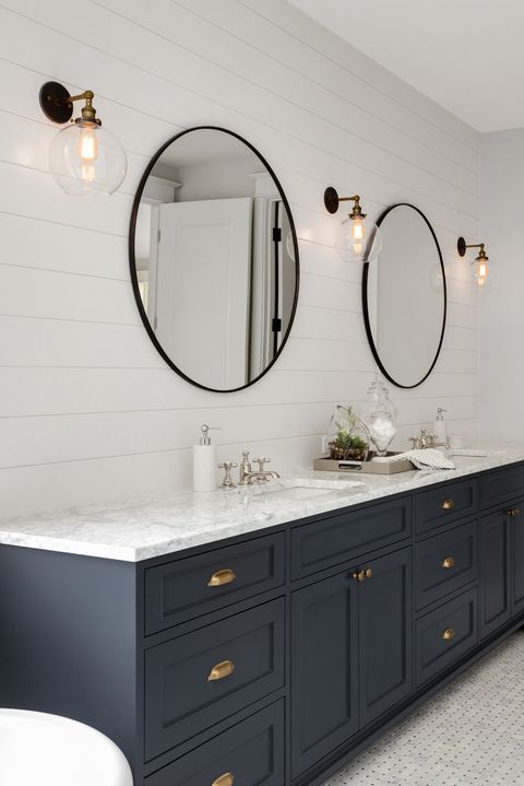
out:
M118 139L94 122L74 122L51 142L49 169L72 197L107 197L122 184L128 162Z

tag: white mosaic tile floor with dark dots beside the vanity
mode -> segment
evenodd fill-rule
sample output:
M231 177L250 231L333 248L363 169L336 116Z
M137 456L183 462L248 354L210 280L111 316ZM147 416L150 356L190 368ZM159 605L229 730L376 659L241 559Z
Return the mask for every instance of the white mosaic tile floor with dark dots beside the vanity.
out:
M324 786L524 786L519 631Z

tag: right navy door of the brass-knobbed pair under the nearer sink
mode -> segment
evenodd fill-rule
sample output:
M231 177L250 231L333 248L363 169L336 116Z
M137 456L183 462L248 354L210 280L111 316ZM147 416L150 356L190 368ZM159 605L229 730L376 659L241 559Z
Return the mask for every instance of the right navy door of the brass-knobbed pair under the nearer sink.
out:
M360 726L412 690L412 549L362 566L358 587Z

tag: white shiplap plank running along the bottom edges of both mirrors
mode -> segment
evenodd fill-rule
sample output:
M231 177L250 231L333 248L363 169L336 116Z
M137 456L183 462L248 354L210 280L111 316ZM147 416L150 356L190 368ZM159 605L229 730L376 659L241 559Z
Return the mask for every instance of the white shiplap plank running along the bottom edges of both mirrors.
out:
M209 420L209 410L246 407L279 407L289 403L354 402L362 408L373 372L278 371L264 376L245 391L217 396L195 388L170 368L96 368L31 366L1 371L0 417L86 414L144 410L199 410ZM471 375L434 373L415 390L393 389L391 396L404 421L427 420L445 407L450 391L464 406L475 403L475 379ZM38 390L35 401L34 390ZM444 403L442 403L444 401ZM412 407L419 407L410 414ZM450 406L450 412L452 407Z

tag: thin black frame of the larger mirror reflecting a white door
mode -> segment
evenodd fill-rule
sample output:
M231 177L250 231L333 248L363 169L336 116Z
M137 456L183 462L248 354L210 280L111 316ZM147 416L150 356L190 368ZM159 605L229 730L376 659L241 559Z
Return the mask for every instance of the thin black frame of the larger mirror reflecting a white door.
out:
M278 189L278 193L281 195L282 202L283 202L283 204L287 211L287 215L289 218L289 228L290 228L291 235L293 235L293 247L294 247L294 256L295 256L295 277L296 277L295 296L294 296L294 301L293 301L291 314L289 317L289 325L288 325L288 328L282 339L282 343L278 348L278 352L273 357L271 363L267 364L267 366L264 368L264 371L261 374L259 374L258 377L255 377L254 379L251 379L251 382L247 383L246 385L240 385L239 387L236 387L236 388L227 388L226 390L221 390L218 388L211 388L211 387L207 387L206 385L201 385L200 383L195 382L194 379L191 379L191 377L189 377L187 374L184 374L182 372L182 369L179 368L172 362L172 360L169 357L169 355L164 351L160 342L157 340L157 338L155 336L155 332L154 332L154 330L151 326L151 322L147 318L147 315L145 313L145 309L144 309L144 306L142 303L142 298L140 296L139 279L136 275L136 258L134 255L134 242L135 242L136 219L139 215L140 201L142 199L145 184L147 181L148 176L151 175L151 173L153 171L153 167L155 166L155 164L157 163L158 159L164 153L164 151L167 150L167 148L169 148L169 145L172 144L177 139L180 139L181 137L184 137L187 133L191 133L192 131L222 131L223 133L228 133L230 137L235 137L240 142L243 142L243 144L246 144L260 159L260 161L262 162L262 164L265 166L269 174L273 178L273 181L275 183L276 188ZM276 177L274 171L272 169L272 167L270 166L267 161L264 159L264 156L261 155L261 153L257 150L257 148L254 148L250 142L248 142L246 139L243 139L243 137L241 137L240 134L235 133L235 131L229 131L227 128L221 128L219 126L194 126L193 128L186 129L186 131L176 133L174 137L168 139L167 142L165 142L162 145L162 148L159 148L157 150L157 152L153 155L153 157L151 159L150 163L147 164L145 172L142 175L142 178L139 183L139 188L136 190L136 196L134 197L133 208L131 211L131 222L130 222L130 226L129 226L129 267L130 267L130 273L131 273L131 283L133 285L134 300L136 301L136 306L139 308L140 316L142 318L142 321L144 324L144 327L147 331L147 335L148 335L151 341L153 342L157 352L165 360L167 365L170 368L172 368L172 371L175 371L177 374L179 374L181 377L183 377L183 379L186 379L186 382L190 383L191 385L194 385L195 387L199 387L203 390L211 390L212 392L219 392L219 394L236 392L237 390L245 390L246 388L251 387L251 385L254 385L255 383L258 383L259 379L262 379L262 377L265 374L267 374L270 368L273 367L273 365L276 363L276 361L281 356L281 353L289 338L293 322L295 321L295 316L296 316L296 312L297 312L297 303L298 303L298 290L299 290L299 285L300 285L300 265L299 265L299 258L298 258L298 241L297 241L297 233L295 230L295 222L293 219L291 210L289 208L289 202L287 201L286 195L284 193L284 190L281 186L281 181Z

